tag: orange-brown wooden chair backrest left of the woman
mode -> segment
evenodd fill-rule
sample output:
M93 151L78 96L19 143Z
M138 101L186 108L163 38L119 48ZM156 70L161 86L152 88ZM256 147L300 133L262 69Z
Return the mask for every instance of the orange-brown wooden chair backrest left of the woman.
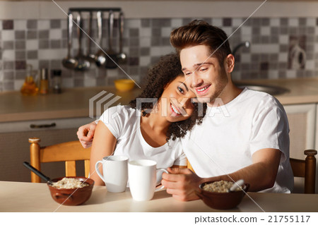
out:
M76 161L84 160L85 176L90 171L90 148L83 148L81 142L63 142L57 145L40 147L40 138L29 138L30 165L41 170L42 162L65 162L65 176L76 176ZM31 172L31 182L40 183L39 176Z

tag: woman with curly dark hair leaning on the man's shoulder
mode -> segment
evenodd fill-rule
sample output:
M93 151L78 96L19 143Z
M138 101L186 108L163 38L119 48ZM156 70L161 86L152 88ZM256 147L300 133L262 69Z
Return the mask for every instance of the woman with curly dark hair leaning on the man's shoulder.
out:
M96 162L111 154L124 154L129 160L152 159L158 168L187 166L179 138L204 117L204 113L198 116L192 97L195 95L184 84L178 56L163 56L148 71L147 83L137 99L129 106L107 109L100 116L90 153L90 178L95 184L103 185L95 173Z

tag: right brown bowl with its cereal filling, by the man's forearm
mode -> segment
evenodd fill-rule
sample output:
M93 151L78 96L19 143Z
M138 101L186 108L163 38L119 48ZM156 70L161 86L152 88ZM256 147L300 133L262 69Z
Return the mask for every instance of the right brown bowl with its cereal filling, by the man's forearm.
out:
M232 181L201 183L199 190L196 190L196 195L213 209L232 209L240 204L249 189L249 184L245 183L241 188L237 187L235 191L229 191L233 184Z

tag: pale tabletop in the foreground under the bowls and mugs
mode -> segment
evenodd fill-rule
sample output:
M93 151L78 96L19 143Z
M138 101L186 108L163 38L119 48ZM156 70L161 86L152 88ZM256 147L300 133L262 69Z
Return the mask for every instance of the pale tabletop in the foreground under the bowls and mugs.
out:
M220 211L201 200L180 202L165 190L155 193L153 200L138 202L128 188L107 193L105 186L95 186L83 205L64 206L54 202L45 183L0 181L0 212L318 212L318 195L247 194L238 207Z

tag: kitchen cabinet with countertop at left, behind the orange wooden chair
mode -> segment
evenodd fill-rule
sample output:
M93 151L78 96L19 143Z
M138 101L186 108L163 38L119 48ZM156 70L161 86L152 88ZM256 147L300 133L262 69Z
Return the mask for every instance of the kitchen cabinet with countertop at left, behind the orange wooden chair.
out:
M40 138L42 146L77 140L78 127L93 121L88 117L91 104L93 114L98 115L105 107L128 104L140 92L139 88L119 92L115 87L76 87L65 89L61 95L0 93L0 106L5 106L0 107L0 181L30 181L30 171L23 166L24 161L30 161L28 138ZM114 96L105 98L110 93ZM96 99L96 96L100 97ZM120 99L114 101L114 97ZM30 128L31 124L52 123L56 125ZM62 162L42 164L42 171L51 178L65 176ZM82 163L76 163L76 171L84 175Z

